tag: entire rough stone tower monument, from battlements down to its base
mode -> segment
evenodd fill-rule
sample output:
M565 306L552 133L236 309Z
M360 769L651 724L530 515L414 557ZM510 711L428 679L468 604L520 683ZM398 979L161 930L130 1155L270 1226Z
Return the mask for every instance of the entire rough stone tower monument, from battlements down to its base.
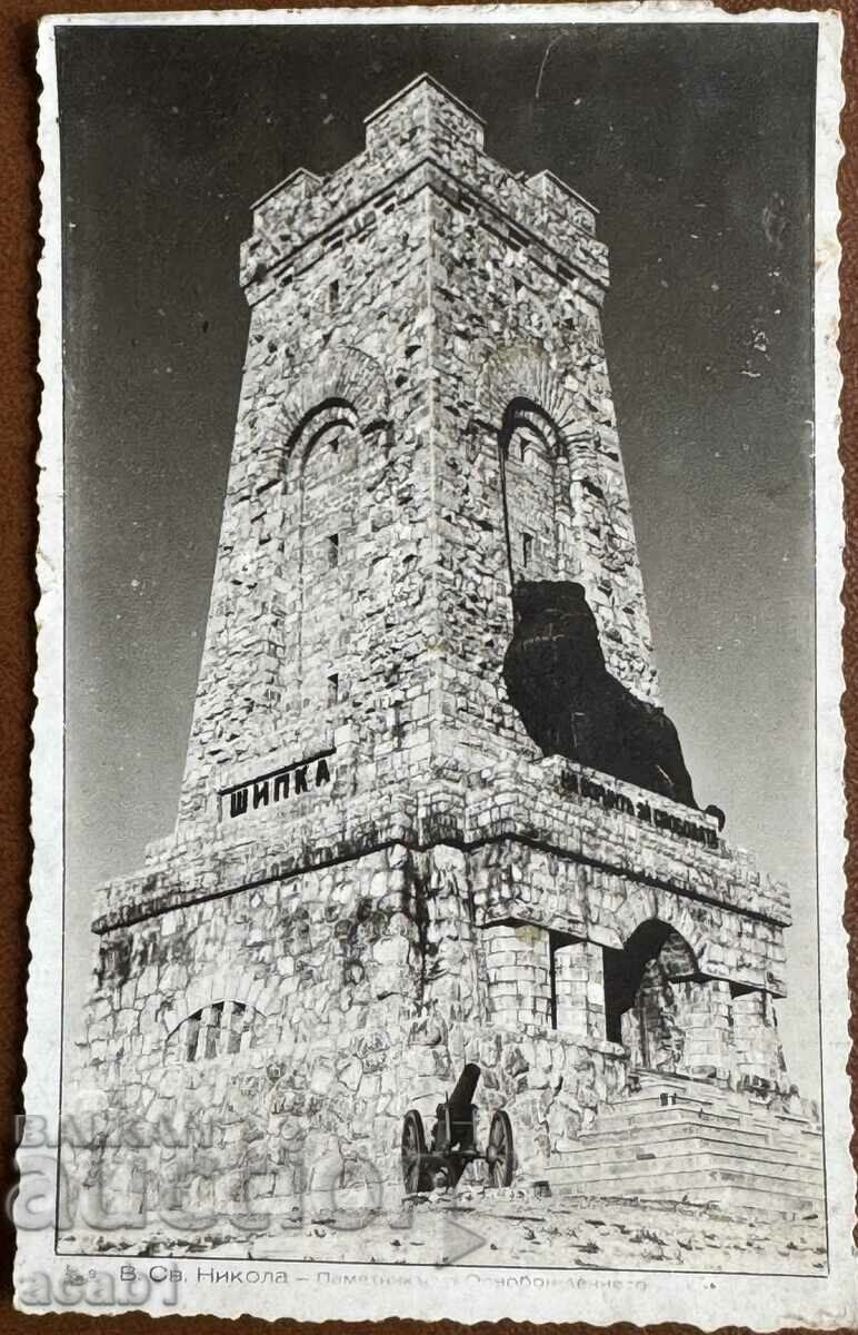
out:
M254 206L179 814L100 892L85 1052L127 1101L215 1109L227 1165L262 1116L267 1202L296 1145L395 1177L464 1061L524 1176L654 1081L786 1097L787 894L659 708L607 279L592 207L428 76Z

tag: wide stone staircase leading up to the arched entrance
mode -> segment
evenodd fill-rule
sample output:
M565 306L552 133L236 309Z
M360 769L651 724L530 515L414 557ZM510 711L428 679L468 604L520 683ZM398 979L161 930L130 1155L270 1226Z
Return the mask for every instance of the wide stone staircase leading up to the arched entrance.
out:
M681 1076L642 1073L640 1088L603 1108L540 1179L558 1196L825 1212L815 1125Z

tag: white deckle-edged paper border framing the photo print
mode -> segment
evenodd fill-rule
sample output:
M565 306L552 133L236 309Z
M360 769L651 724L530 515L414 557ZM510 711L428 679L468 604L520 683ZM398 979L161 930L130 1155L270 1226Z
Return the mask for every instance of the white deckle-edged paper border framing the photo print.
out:
M350 1284L320 1290L284 1286L275 1310L259 1290L195 1288L183 1294L181 1304L172 1308L148 1308L153 1315L167 1311L212 1312L239 1318L252 1312L263 1318L292 1316L303 1320L330 1318L383 1318L395 1307L402 1318L452 1318L459 1322L499 1319L556 1322L576 1320L607 1324L622 1319L638 1324L663 1320L687 1322L703 1330L725 1324L753 1324L761 1331L783 1326L815 1328L858 1324L854 1250L846 1222L855 1216L854 1169L849 1155L853 1133L850 1085L846 1075L849 1056L849 996L846 989L846 932L842 924L846 880L843 792L845 736L839 713L843 692L841 634L843 627L843 482L838 458L839 394L842 375L837 352L838 338L838 270L841 247L837 235L839 206L837 172L843 155L839 117L845 103L841 75L843 27L838 13L797 13L794 11L755 11L726 15L714 5L686 4L683 0L649 0L640 4L611 5L479 5L444 8L410 8L378 11L220 11L160 15L84 15L43 19L39 27L37 73L43 92L39 100L39 151L43 163L40 235L43 252L39 263L39 375L43 382L39 415L40 470L37 486L39 547L36 570L40 602L36 613L37 668L36 713L33 720L33 753L31 762L33 805L32 902L28 914L31 959L35 961L28 983L28 1031L24 1044L27 1077L24 1100L28 1116L44 1116L59 1105L60 1080L60 1013L57 980L61 977L61 910L63 910L63 728L64 728L64 551L63 551L63 356L61 356L61 183L59 158L56 29L67 24L107 24L109 21L140 24L230 24L248 20L256 25L274 23L418 23L466 21L487 23L647 23L671 19L718 23L809 23L818 24L818 92L817 92L817 176L815 176L815 517L817 534L826 531L825 546L817 550L817 740L818 740L818 820L819 820L819 917L821 917L821 992L823 996L823 1067L826 1156L829 1165L829 1204L831 1270L830 1278L818 1282L778 1276L770 1283L759 1276L721 1276L718 1274L682 1275L658 1271L568 1272L570 1278L592 1283L592 1287L567 1287L550 1292L520 1279L515 1287L502 1287L504 1267L478 1276L467 1268L447 1270L443 1280L438 1272L412 1291L400 1287L391 1271L402 1275L404 1267L355 1266L355 1272L368 1274L366 1287ZM825 93L825 97L823 97ZM45 1060L45 1053L52 1059ZM29 1171L44 1172L49 1151L20 1151L19 1169L25 1187ZM36 1163L37 1160L37 1163ZM56 1165L56 1156L52 1156ZM104 1258L105 1263L111 1258ZM15 1267L16 1290L24 1270L44 1267L59 1272L63 1258L53 1255L53 1228L19 1231ZM193 1263L195 1264L195 1263ZM216 1263L215 1263L216 1264ZM279 1263L271 1263L279 1264ZM286 1263L284 1263L286 1264ZM314 1263L315 1266L315 1263ZM231 1263L228 1270L238 1268ZM295 1263L290 1264L295 1270ZM319 1268L319 1267L316 1267ZM540 1272L534 1270L538 1276ZM806 1299L813 1283L813 1298ZM396 1286L391 1288L390 1286ZM492 1287L496 1286L496 1287ZM396 1295L394 1298L394 1294ZM620 1296L622 1295L622 1296ZM795 1298L794 1298L795 1295ZM262 1298L262 1303L260 1303ZM344 1299L347 1298L347 1302ZM801 1298L801 1300L799 1300ZM287 1299L283 1302L283 1299ZM288 1300L291 1299L291 1302ZM304 1300L306 1299L306 1300ZM486 1299L482 1302L480 1299ZM427 1314L427 1302L431 1311ZM16 1306L23 1311L32 1307ZM67 1311L68 1303L51 1302L39 1311ZM84 1311L83 1306L77 1306ZM101 1315L127 1307L91 1308Z

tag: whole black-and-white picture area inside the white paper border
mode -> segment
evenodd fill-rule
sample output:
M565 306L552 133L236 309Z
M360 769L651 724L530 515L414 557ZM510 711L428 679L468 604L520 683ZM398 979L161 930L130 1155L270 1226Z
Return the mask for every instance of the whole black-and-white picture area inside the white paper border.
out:
M826 1282L818 24L53 40L57 1259Z

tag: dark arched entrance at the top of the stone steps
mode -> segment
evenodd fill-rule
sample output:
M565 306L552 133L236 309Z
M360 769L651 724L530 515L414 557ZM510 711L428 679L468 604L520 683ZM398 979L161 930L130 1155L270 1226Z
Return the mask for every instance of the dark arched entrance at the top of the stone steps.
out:
M694 951L674 928L649 918L622 951L604 952L606 1035L632 1067L686 1068L686 1031L701 981Z

